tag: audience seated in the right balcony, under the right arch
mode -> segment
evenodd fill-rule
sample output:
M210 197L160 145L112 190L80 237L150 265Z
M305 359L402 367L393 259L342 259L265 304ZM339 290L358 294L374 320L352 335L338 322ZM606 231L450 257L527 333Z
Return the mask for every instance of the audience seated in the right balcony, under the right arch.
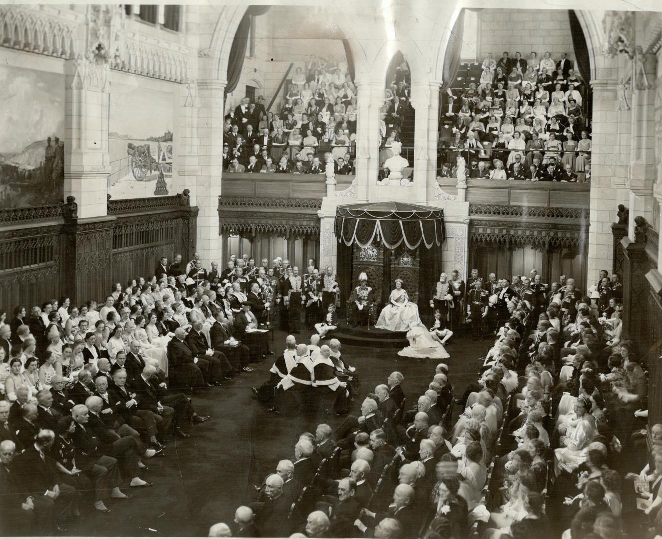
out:
M553 157L563 170L589 170L591 122L582 109L585 83L565 54L557 62L549 52L540 61L535 52L528 60L520 53L510 58L504 52L498 62L488 54L481 67L479 81L448 89L448 96L443 96L445 161L455 163L461 155L465 161L485 160L488 169L501 171L519 155L517 168L526 175L534 159L546 168Z

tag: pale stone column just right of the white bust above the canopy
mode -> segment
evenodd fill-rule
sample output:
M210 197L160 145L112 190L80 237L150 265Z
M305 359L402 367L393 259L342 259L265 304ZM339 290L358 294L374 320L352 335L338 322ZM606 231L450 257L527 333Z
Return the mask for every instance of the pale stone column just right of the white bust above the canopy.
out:
M416 110L414 120L414 190L416 202L434 198L439 138L439 83L417 84L412 87L411 104Z

